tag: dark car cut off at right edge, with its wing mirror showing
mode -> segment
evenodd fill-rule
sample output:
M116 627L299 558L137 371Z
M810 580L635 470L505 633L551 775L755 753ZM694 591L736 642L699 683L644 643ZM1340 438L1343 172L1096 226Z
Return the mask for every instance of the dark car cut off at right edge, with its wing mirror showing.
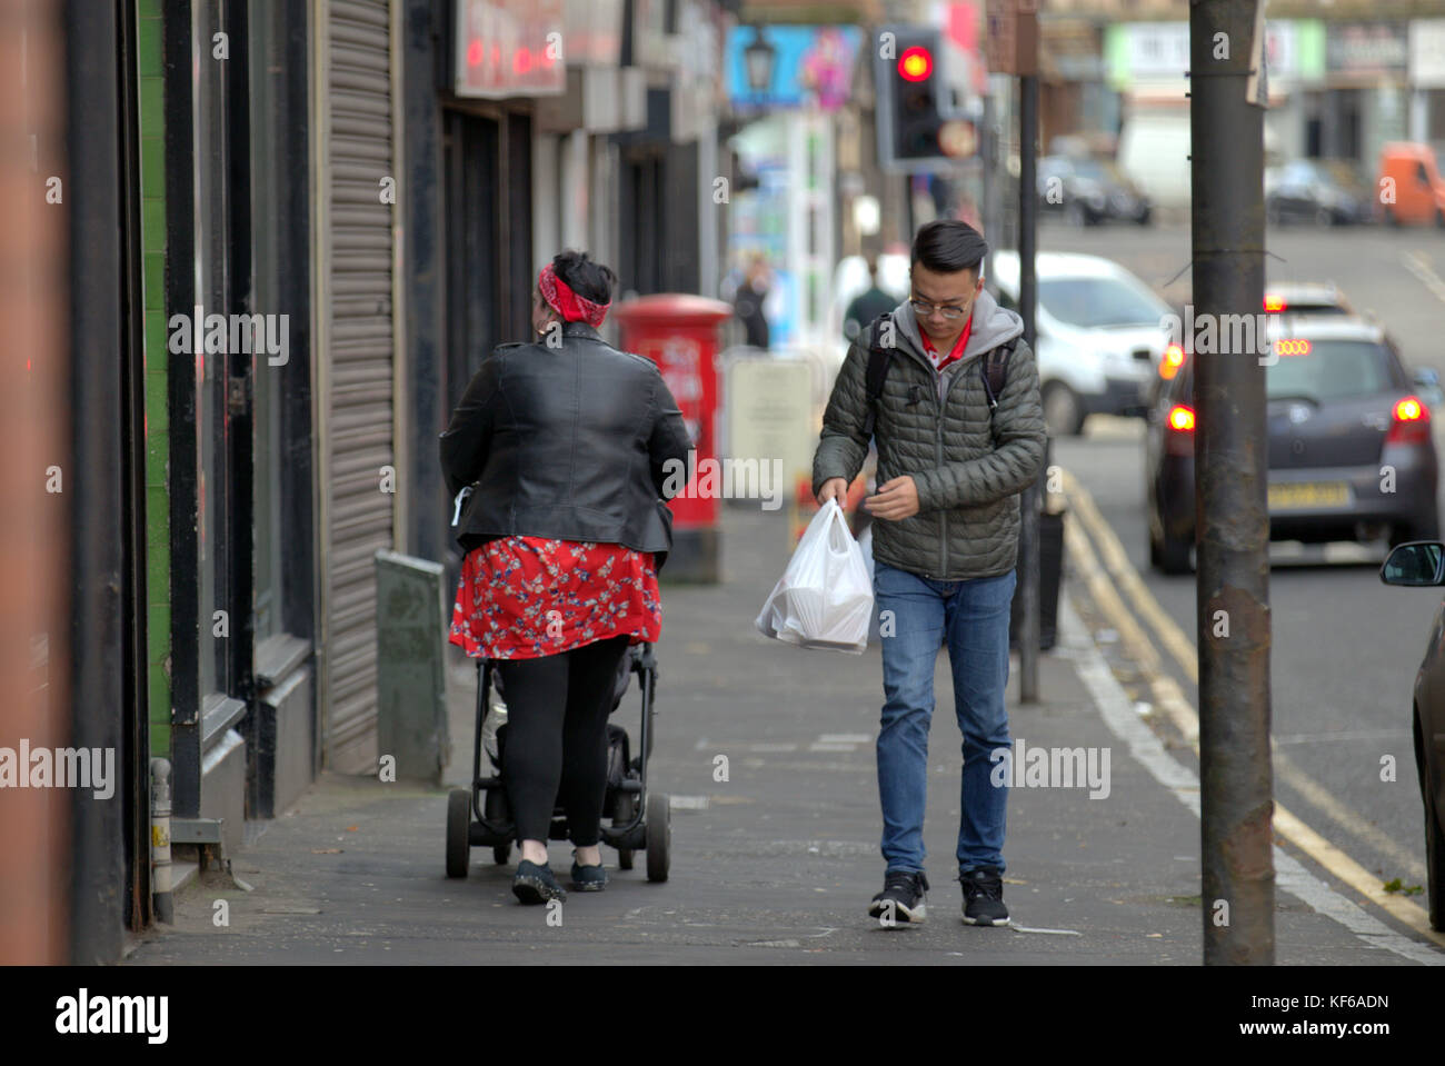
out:
M1445 585L1445 545L1400 545L1380 568L1386 585ZM1415 673L1410 724L1415 771L1425 805L1425 874L1431 929L1445 932L1445 602L1435 611L1425 659Z

